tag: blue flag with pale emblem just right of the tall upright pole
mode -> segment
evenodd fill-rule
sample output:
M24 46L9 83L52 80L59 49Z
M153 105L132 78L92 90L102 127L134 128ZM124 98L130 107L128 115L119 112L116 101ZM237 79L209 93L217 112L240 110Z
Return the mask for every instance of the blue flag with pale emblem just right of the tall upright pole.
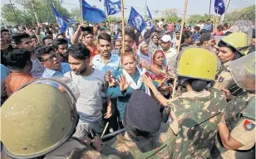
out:
M135 10L134 7L130 8L130 17L128 19L128 24L132 27L135 27L138 32L141 32L143 31L143 29L145 29L145 21L140 13Z

